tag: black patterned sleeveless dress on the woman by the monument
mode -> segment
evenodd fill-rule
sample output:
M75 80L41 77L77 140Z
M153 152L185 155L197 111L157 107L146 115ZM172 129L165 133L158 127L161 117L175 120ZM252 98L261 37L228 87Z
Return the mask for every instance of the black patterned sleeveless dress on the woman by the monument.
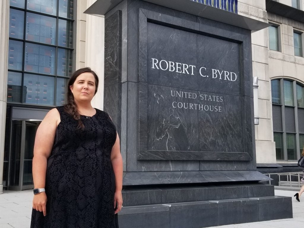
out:
M31 228L118 228L111 151L116 128L106 112L78 122L56 107L61 122L47 161L47 216L33 209Z

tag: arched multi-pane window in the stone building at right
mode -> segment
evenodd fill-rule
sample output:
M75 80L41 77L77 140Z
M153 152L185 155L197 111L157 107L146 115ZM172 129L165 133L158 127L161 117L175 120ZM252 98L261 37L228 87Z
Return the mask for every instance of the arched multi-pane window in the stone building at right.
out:
M304 86L289 79L271 80L276 159L297 161L304 147Z

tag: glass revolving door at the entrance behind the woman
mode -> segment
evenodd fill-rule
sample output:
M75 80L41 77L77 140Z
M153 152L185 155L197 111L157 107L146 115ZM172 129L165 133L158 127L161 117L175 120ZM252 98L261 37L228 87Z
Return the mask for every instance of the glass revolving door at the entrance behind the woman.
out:
M34 187L33 151L40 122L41 120L31 119L12 121L8 190L21 191Z

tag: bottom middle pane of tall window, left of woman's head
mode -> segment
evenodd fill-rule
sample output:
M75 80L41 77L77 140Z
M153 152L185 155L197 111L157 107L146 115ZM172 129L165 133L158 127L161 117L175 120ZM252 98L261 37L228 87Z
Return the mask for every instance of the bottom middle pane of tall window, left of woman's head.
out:
M23 85L26 92L23 93L23 99L25 103L54 105L54 84L53 77L24 74Z

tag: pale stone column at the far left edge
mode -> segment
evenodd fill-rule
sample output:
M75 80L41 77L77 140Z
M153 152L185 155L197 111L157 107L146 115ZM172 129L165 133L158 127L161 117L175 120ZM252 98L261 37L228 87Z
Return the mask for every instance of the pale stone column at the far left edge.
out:
M9 0L2 0L0 4L0 194L3 192L3 159L5 138L5 114L7 92L7 60L9 45Z

